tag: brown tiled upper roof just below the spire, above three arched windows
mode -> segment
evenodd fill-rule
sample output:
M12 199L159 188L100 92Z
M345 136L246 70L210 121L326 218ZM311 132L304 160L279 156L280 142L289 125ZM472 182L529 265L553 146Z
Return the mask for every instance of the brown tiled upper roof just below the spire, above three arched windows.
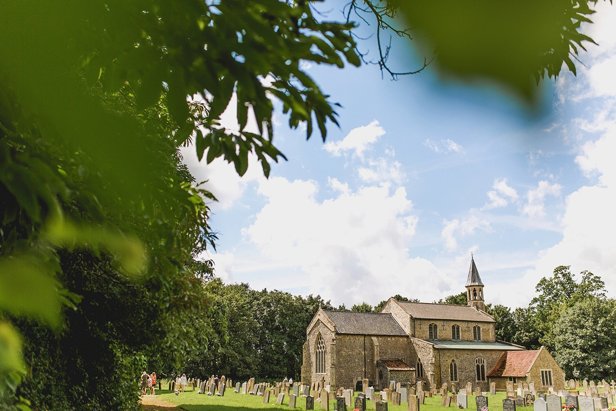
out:
M416 319L494 322L490 315L471 306L410 301L396 301L396 303Z

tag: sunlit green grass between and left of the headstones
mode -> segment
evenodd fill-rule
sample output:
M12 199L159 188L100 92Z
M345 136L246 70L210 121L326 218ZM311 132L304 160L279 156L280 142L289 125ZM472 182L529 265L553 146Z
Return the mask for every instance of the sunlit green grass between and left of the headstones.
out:
M355 393L354 397L358 393ZM495 396L488 396L488 407L490 411L503 409L503 399L505 399L505 392L498 391ZM263 404L263 397L251 396L249 394L235 394L232 391L227 391L224 397L208 396L203 394L197 394L197 391L188 390L184 393L180 393L178 396L172 391L157 390L156 396L165 399L166 401L175 404L177 407L186 411L248 411L255 409L270 409L270 410L288 410L289 409L289 397L285 396L283 405L276 405L276 398L272 393L270 396L269 404ZM440 406L440 396L426 397L423 405L419 406L419 411L444 411L444 407ZM334 402L330 400L330 411L334 409ZM468 397L468 409L475 411L475 396ZM298 397L296 410L306 410L306 398ZM315 411L320 411L321 403L314 403ZM374 410L375 404L373 401L366 401L366 409ZM407 411L407 403L402 402L401 405L392 405L391 402L387 404L389 411ZM450 410L456 410L455 404L449 407ZM347 407L347 411L352 411L352 407ZM533 407L517 407L516 411L533 411Z

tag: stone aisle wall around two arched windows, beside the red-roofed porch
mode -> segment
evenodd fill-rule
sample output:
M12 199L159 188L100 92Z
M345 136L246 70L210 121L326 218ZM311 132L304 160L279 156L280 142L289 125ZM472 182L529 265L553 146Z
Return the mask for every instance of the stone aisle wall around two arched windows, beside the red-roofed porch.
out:
M479 386L482 391L490 391L490 383L487 376L485 381L477 381L476 359L479 357L484 359L487 375L503 354L503 351L495 349L435 349L434 351L436 351L434 359L437 387L444 383L451 385L453 382L460 389L465 387L466 383L471 383L473 389ZM458 365L458 381L450 381L449 365L452 360Z

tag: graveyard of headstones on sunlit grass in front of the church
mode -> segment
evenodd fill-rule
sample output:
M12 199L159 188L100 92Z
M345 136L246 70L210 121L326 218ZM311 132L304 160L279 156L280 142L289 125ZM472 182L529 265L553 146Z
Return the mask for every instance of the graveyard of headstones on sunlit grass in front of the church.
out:
M245 386L246 385L246 386ZM317 391L309 390L301 384L268 387L268 384L236 383L231 389L225 389L224 395L201 394L200 389L189 386L184 393L175 394L169 389L159 390L156 398L172 404L179 409L187 411L245 411L251 409L297 409L297 410L328 410L328 411L444 411L448 409L469 409L481 411L482 409L503 411L561 411L565 406L573 405L570 411L597 411L609 410L614 402L614 383L598 383L594 381L575 382L568 381L567 390L559 393L530 393L522 387L514 388L514 391L492 391L479 393L463 390L453 394L444 389L433 391L420 391L417 396L408 396L406 388L397 388L396 391L373 392L369 388L365 402L360 398L364 394L360 391L342 390L329 392L326 388ZM522 384L520 384L522 385ZM202 384L202 387L205 383ZM511 383L513 386L513 383ZM573 388L570 388L573 387ZM169 387L166 387L169 388ZM432 387L434 388L434 387ZM532 388L532 386L531 386ZM414 389L414 388L411 388ZM246 394L243 394L243 393ZM207 393L207 391L206 391ZM255 394L251 394L255 393ZM298 395L294 395L298 394ZM302 394L304 393L304 394ZM309 393L309 395L306 395ZM338 395L342 394L342 395ZM444 394L444 395L441 395ZM467 395L469 394L469 395ZM479 395L478 395L479 394ZM522 394L522 395L519 395ZM536 394L536 395L535 395ZM387 396L391 398L386 398ZM372 397L372 399L370 399ZM325 398L327 398L325 400ZM384 400L387 401L378 401ZM409 399L411 404L409 404ZM376 401L375 401L376 400ZM326 406L322 404L327 403ZM365 404L365 405L362 405ZM365 407L365 408L364 408Z

